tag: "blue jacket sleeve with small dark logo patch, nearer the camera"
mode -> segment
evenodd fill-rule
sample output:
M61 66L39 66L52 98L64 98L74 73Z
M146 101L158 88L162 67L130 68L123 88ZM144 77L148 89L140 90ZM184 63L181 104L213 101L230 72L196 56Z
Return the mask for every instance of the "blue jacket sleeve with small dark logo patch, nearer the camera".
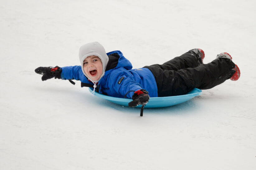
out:
M134 76L124 68L118 68L112 71L108 85L122 96L125 96L127 92L132 90L132 92L126 95L130 99L134 94L133 91L142 89L141 85L135 81Z

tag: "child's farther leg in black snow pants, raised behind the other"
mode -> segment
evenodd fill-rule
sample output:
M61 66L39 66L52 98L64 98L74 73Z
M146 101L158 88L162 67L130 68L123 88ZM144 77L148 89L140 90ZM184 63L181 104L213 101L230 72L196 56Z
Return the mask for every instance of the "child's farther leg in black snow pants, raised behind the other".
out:
M202 50L201 50L202 51ZM189 50L187 53L182 54L179 57L175 57L164 64L154 64L151 66L161 68L163 70L179 70L183 68L194 68L202 64L202 58L204 52L200 52L200 49L195 48ZM147 67L147 66L146 66Z

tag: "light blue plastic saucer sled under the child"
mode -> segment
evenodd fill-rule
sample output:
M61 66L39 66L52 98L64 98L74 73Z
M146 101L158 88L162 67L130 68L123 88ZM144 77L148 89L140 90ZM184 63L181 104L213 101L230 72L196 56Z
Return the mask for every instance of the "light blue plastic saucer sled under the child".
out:
M89 88L89 91L92 92L92 89ZM145 105L145 108L162 108L162 107L173 106L176 104L186 102L192 99L193 97L199 96L201 94L202 94L202 90L194 88L193 90L191 90L185 95L168 96L168 97L151 97L149 99L149 103ZM95 92L94 95L102 99L111 101L113 103L120 104L122 106L128 106L128 103L132 101L132 99L111 97L111 96L106 96L104 94L100 94L97 92ZM141 108L141 105L137 106L136 108Z

